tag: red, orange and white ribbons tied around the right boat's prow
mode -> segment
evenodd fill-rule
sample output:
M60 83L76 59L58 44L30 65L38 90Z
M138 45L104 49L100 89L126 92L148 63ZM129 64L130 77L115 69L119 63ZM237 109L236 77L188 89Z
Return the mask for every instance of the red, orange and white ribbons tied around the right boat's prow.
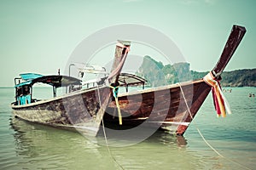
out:
M214 101L215 110L217 111L217 116L226 116L226 112L231 114L230 105L225 99L224 94L222 93L220 84L218 80L213 77L212 72L209 72L203 80L212 87L212 96Z

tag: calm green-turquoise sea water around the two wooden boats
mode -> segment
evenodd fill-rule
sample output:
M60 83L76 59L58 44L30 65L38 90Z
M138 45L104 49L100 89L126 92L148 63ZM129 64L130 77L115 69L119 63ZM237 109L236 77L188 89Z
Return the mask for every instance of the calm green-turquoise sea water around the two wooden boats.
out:
M256 88L224 93L232 111L226 118L216 116L210 94L183 137L157 132L138 144L110 147L111 156L106 145L80 133L14 118L14 88L0 88L0 169L256 169L256 98L250 93Z

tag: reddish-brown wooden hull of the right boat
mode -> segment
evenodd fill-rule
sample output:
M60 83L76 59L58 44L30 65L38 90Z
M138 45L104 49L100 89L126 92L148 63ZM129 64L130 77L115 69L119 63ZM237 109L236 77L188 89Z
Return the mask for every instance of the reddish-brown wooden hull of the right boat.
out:
M160 127L183 135L210 90L207 83L199 80L120 94L123 126L132 128L145 123L148 127ZM109 127L113 124L117 127L119 124L116 112L113 100L104 115L104 122L111 122L108 123Z

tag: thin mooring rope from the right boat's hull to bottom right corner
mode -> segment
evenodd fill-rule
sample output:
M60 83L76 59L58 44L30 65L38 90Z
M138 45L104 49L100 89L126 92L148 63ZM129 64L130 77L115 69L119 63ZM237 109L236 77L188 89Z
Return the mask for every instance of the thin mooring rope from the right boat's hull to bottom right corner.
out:
M183 94L183 99L184 99L185 105L186 105L186 107L187 107L187 109L188 109L188 111L189 111L189 116L191 117L191 120L193 121L193 120L194 120L194 117L193 117L192 114L191 114L191 111L190 111L190 109L189 109L189 105L188 105L187 99L185 98L185 95L184 95L184 93L183 93L183 88L182 88L180 82L178 82L178 85L179 85L179 88L180 88L180 90L181 90L181 93ZM218 152L218 150L216 150L215 148L213 148L213 146L207 142L207 139L205 139L205 137L204 137L203 134L201 133L201 130L197 127L197 125L196 125L195 122L194 122L194 125L195 125L195 128L196 128L197 132L200 134L201 139L203 139L203 141L204 141L218 156L221 156L221 157L223 157L224 159L226 159L227 161L230 161L230 162L232 162L232 163L235 163L236 165L238 165L238 166L240 166L240 167L246 168L246 169L248 169L248 170L252 170L251 168L245 167L245 166L241 165L240 163L238 163L238 162L236 162L236 161L232 161L232 160L230 160L229 158L227 158L227 157L223 156L222 154L220 154L220 153Z

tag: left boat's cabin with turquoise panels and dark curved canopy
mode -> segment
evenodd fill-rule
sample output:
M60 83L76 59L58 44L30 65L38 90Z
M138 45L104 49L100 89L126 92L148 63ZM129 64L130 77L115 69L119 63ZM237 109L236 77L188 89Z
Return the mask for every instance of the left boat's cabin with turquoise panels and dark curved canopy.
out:
M35 102L32 99L32 87L35 83L48 84L53 88L53 97L56 97L56 88L65 87L66 93L70 93L82 88L81 80L75 77L61 75L43 76L34 73L20 74L15 78L15 105L26 105Z

